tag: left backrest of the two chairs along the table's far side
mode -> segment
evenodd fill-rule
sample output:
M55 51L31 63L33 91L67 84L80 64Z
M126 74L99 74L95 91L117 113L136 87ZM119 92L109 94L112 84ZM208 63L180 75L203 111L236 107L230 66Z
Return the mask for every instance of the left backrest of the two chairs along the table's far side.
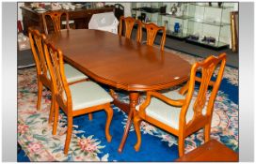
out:
M124 18L123 16L120 17L120 29L119 29L119 35L121 36L122 33L122 28L123 25L122 23L124 22L125 24L125 32L124 32L124 37L126 38L131 38L132 36L132 31L134 29L135 24L137 23L138 25L140 24L140 21L134 19L133 17L126 17ZM136 41L141 41L141 30L138 28L137 29L137 34L136 34Z

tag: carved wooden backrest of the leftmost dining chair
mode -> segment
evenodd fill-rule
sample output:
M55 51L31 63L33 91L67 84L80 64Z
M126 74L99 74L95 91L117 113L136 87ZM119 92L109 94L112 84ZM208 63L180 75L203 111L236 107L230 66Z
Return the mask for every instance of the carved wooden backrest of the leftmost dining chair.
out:
M37 67L37 74L38 76L41 75L47 78L48 67L46 65L45 55L42 46L42 41L46 37L43 34L40 34L38 30L33 29L31 27L28 28L28 36L31 50Z

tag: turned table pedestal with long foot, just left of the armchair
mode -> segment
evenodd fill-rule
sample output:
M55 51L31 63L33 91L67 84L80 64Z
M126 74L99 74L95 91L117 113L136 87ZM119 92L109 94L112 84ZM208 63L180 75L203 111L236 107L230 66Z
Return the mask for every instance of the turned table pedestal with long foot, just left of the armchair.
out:
M122 151L124 143L126 142L130 127L131 127L132 122L133 122L133 116L134 116L134 112L136 110L136 104L137 104L137 101L138 101L138 96L139 96L139 94L136 93L136 92L132 92L129 95L129 97L130 97L130 112L129 112L129 115L128 115L126 127L125 127L123 135L122 135L122 139L121 139L121 142L120 142L120 147L119 147L119 152L120 153Z

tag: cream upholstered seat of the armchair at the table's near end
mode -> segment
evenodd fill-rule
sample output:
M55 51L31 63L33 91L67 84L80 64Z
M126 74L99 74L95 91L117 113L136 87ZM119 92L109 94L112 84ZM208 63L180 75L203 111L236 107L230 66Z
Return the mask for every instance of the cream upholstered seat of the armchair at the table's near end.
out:
M179 94L179 90L169 91L167 93L164 93L163 95L173 100L185 98L185 96ZM195 103L195 98L192 98L186 113L186 123L192 120L192 117L194 114L193 112L194 103ZM205 106L207 106L207 104ZM139 109L139 105L136 106L136 111L138 111L138 109ZM181 108L168 105L164 101L155 97L152 97L151 103L146 110L146 114L149 115L150 117L156 120L161 120L161 122L168 125L168 127L173 127L175 129L179 129L180 112L181 112ZM203 115L206 114L205 107L202 110L202 114Z

